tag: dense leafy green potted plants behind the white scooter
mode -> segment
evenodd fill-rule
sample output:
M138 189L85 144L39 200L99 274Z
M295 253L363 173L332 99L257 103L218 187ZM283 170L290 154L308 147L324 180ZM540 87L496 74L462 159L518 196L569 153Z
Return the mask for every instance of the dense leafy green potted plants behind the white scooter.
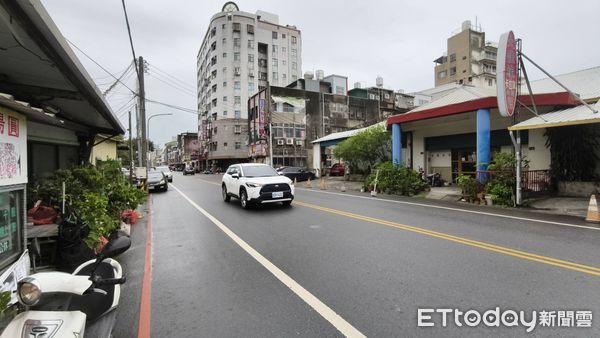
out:
M65 270L93 257L121 225L121 214L135 209L145 193L132 186L117 162L59 170L32 189L36 199L61 210L65 185L65 213L59 231L59 250Z

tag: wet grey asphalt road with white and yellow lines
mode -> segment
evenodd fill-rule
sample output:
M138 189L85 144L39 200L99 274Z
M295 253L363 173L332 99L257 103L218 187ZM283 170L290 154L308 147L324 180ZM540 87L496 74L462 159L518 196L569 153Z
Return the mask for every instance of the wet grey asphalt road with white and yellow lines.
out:
M534 336L600 336L600 231L579 220L314 188L243 210L219 182L179 174L152 194L153 337L527 334L456 312L417 325L418 309L496 308L537 311ZM567 312L547 328L540 311ZM592 327L557 327L585 324L559 320L569 311L592 311Z

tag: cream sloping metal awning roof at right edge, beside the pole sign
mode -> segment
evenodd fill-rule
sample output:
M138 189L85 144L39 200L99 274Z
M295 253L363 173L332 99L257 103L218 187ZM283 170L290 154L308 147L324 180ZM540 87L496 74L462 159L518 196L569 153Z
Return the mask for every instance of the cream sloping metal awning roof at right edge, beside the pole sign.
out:
M600 101L592 106L597 112L592 112L588 107L580 105L573 108L554 111L535 116L529 120L509 127L509 130L526 130L570 126L577 124L600 123Z

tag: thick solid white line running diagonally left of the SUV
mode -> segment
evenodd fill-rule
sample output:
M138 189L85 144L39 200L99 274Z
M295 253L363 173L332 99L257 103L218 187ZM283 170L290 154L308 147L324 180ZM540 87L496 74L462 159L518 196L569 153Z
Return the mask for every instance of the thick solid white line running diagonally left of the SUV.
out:
M201 206L192 201L186 194L184 194L181 190L179 190L176 186L171 184L171 186L183 196L194 208L200 211L206 218L208 218L211 222L213 222L221 231L223 231L229 238L231 238L237 245L239 245L244 251L246 251L252 258L254 258L257 262L259 262L262 266L264 266L273 276L275 276L279 281L285 284L292 292L294 292L298 297L300 297L303 301L306 302L310 307L312 307L317 313L319 313L323 318L325 318L328 322L331 323L340 333L345 335L346 337L366 337L360 331L358 331L354 326L348 323L344 318L335 313L329 306L325 303L321 302L317 297L313 296L308 290L302 287L302 285L298 284L295 280L293 280L290 276L288 276L285 272L271 263L268 259L266 259L263 255L261 255L258 251L254 250L248 243L246 243L243 239L238 237L233 231L231 231L225 224L221 223L218 219L216 219L213 215L209 214L206 210L204 210Z

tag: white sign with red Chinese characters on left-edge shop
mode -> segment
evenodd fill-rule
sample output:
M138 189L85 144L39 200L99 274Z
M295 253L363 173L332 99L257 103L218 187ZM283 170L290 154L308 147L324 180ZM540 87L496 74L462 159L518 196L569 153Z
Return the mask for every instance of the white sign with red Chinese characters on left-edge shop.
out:
M27 121L0 107L0 186L27 183Z

